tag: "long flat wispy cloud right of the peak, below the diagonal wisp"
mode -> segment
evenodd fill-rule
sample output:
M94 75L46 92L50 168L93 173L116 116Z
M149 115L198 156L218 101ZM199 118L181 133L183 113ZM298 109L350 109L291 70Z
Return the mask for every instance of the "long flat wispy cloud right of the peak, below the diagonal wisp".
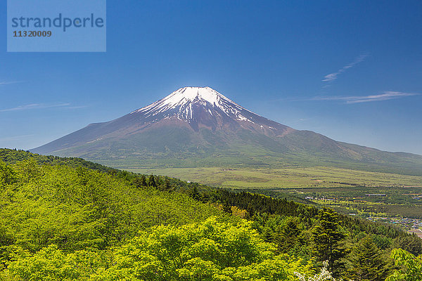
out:
M420 96L421 93L403 93L396 91L385 91L378 95L372 96L322 96L315 97L311 100L344 100L345 103L369 103L373 101L392 100L397 98L404 98L407 96Z

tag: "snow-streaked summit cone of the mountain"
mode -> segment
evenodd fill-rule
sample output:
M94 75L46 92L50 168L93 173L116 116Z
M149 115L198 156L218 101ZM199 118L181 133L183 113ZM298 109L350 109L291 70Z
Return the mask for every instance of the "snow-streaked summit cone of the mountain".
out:
M192 129L204 126L212 130L253 129L276 134L286 132L286 126L256 115L234 103L210 87L184 87L169 96L131 112L140 126L157 122L186 122Z

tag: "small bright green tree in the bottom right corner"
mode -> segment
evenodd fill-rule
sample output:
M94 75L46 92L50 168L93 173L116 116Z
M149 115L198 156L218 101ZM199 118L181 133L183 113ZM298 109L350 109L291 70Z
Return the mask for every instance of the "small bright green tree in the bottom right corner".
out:
M422 280L422 256L414 256L403 249L393 249L391 258L399 270L395 270L388 276L386 281L421 281Z

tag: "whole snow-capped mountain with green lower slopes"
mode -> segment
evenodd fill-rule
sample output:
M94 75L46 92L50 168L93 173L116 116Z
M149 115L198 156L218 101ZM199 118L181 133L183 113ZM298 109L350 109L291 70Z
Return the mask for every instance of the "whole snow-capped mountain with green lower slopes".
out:
M261 117L210 87L184 87L34 148L120 168L340 166L422 175L422 156L333 141Z

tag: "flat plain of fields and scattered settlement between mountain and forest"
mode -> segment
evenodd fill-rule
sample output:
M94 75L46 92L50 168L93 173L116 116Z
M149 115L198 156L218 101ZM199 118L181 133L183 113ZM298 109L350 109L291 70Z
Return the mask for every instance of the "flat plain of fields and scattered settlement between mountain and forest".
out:
M288 197L312 197L346 214L422 218L422 176L356 171L325 166L283 169L167 168L131 169L207 185ZM371 194L371 195L369 195ZM378 194L378 195L376 195ZM296 199L294 199L296 198ZM300 198L300 200L298 200Z

